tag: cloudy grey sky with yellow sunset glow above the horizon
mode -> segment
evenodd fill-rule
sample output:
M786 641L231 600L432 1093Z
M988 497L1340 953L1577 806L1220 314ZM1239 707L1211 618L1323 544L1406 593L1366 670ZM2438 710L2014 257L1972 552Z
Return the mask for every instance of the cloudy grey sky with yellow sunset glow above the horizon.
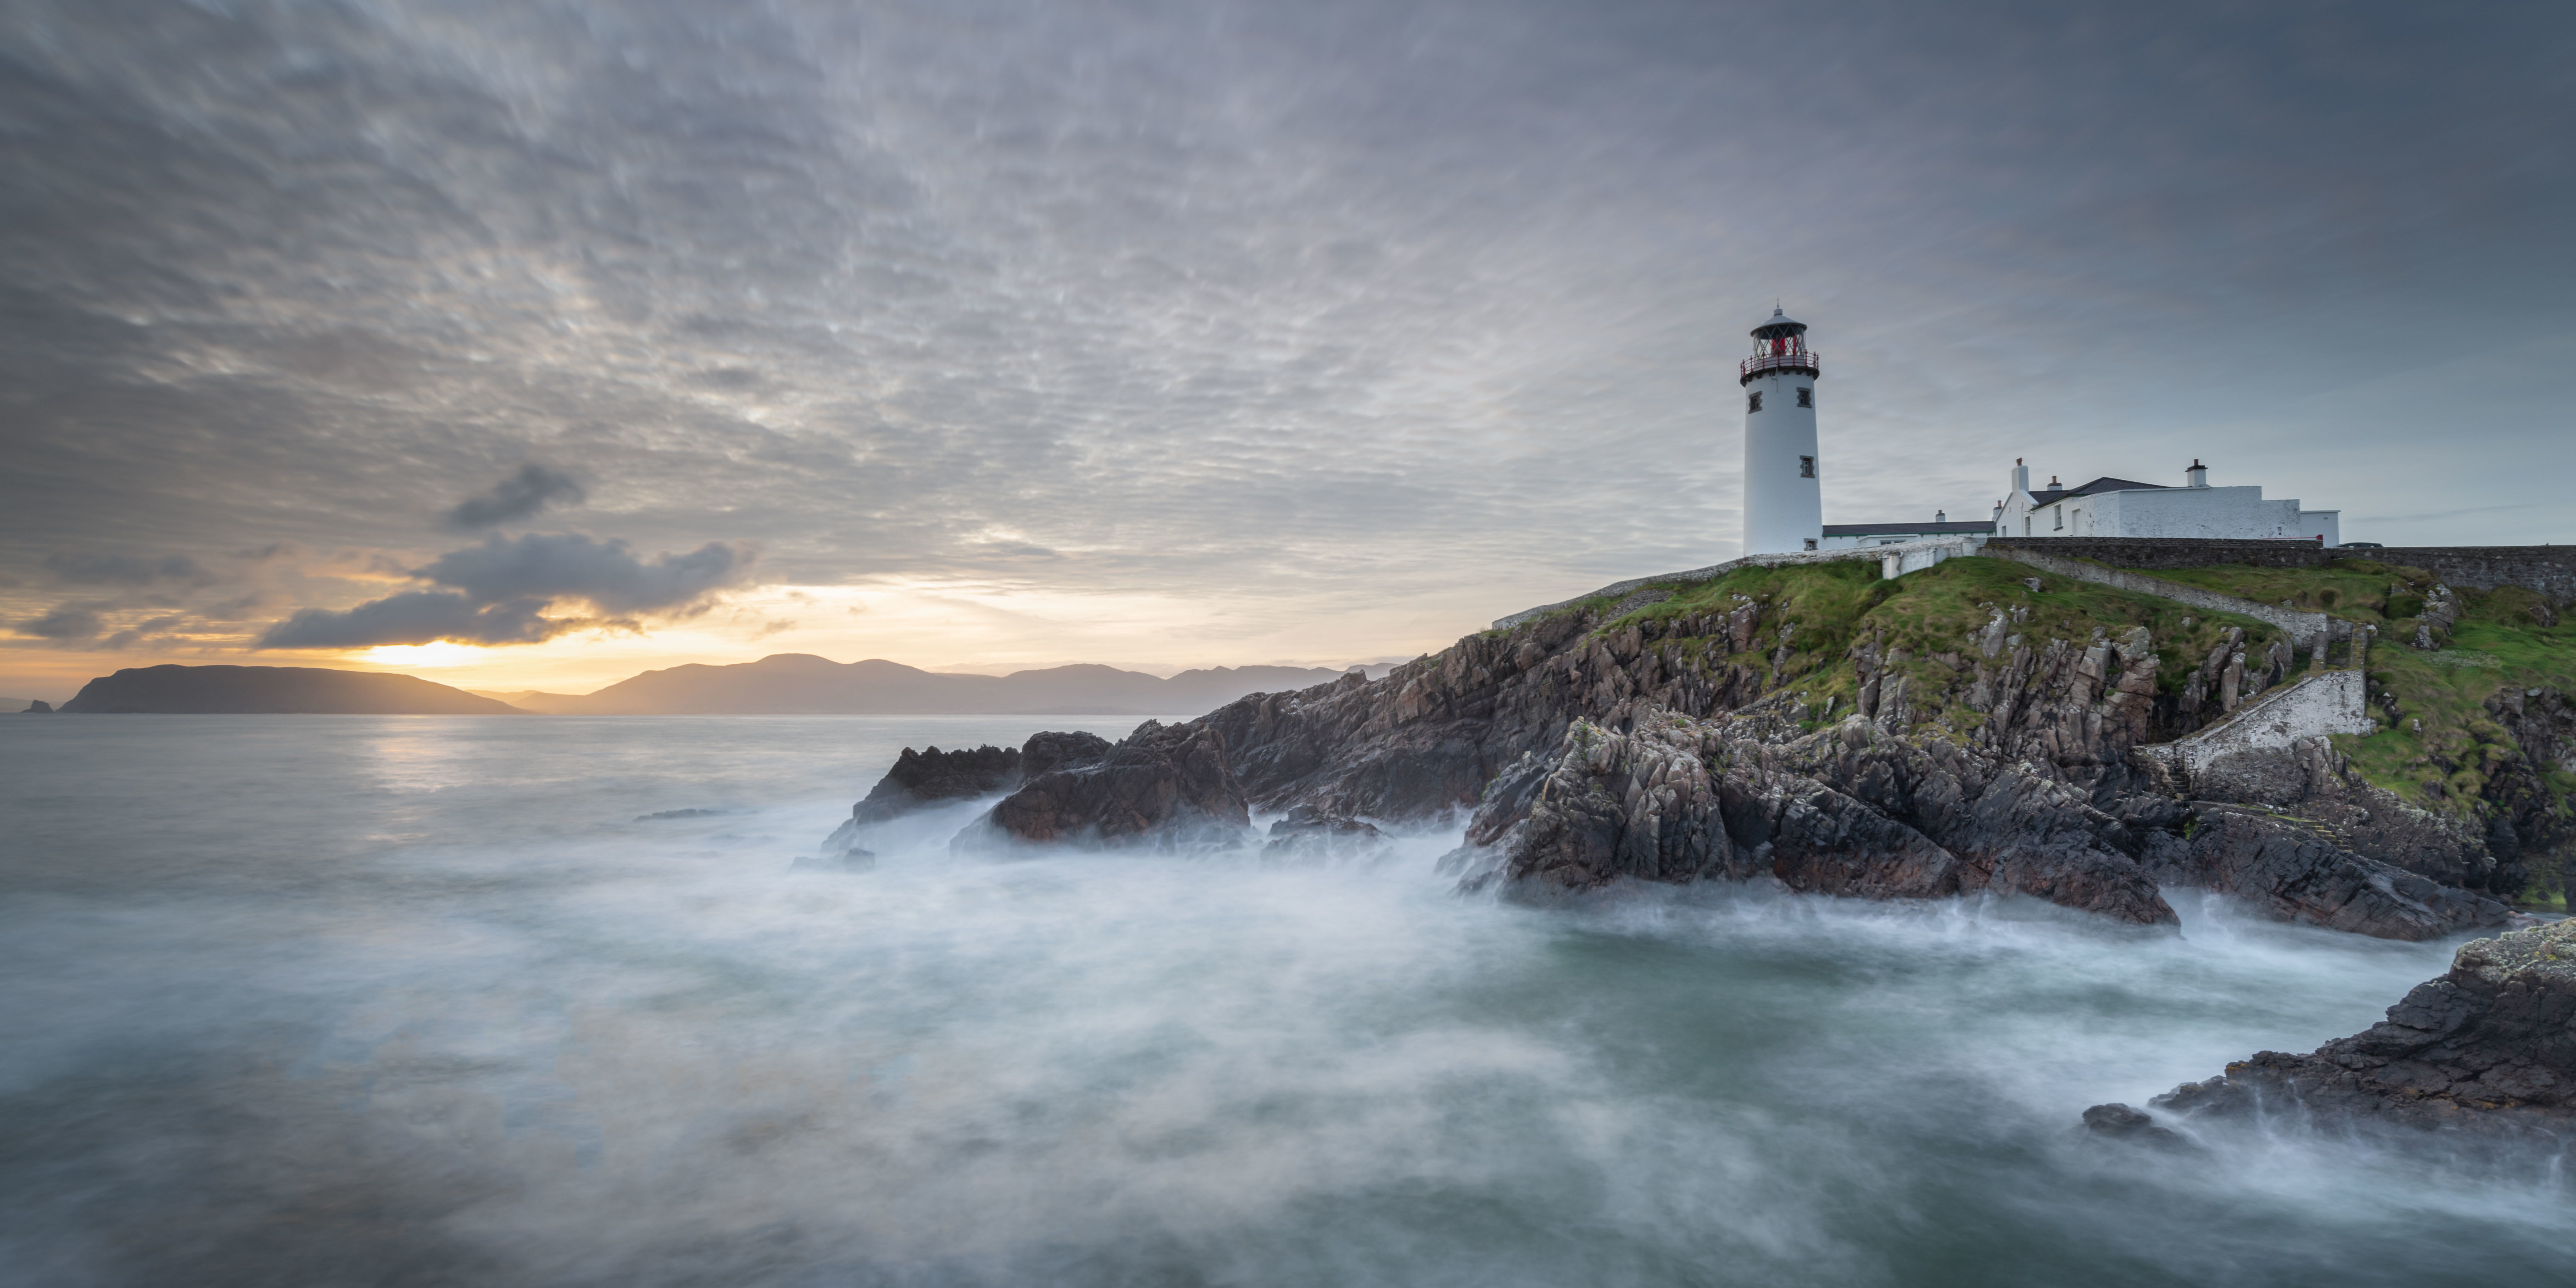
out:
M0 3L0 693L1345 665L2014 456L2576 541L2576 10Z

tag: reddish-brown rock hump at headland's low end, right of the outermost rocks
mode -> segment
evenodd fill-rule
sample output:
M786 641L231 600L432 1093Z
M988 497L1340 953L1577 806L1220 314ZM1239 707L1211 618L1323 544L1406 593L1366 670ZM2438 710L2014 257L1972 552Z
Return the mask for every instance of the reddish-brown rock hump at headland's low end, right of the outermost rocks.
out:
M1054 768L992 806L961 842L1234 845L1252 811L1226 762L1226 739L1200 724L1144 721L1092 765Z

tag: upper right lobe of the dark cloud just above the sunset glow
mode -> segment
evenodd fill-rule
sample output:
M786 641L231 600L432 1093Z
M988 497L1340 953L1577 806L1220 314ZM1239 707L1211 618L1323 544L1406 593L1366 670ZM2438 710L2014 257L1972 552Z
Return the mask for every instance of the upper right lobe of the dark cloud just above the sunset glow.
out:
M750 567L750 551L721 541L636 559L623 541L531 533L443 554L415 577L464 590L474 603L577 598L608 613L672 613L739 582Z

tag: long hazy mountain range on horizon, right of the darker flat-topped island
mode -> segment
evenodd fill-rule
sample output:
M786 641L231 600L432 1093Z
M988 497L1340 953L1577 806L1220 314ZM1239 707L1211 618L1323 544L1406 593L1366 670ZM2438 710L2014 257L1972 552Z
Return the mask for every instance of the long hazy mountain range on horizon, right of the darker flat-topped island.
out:
M598 693L487 693L556 716L1170 716L1213 711L1244 693L1337 680L1327 667L1216 667L1170 680L1077 665L958 675L902 662L832 662L783 652L729 667L647 670Z

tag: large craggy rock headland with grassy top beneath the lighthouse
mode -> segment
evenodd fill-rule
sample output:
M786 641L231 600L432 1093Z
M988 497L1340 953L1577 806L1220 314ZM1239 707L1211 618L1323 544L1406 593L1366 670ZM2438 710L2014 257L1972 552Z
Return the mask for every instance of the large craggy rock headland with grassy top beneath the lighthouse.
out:
M1468 889L1726 878L2174 925L2161 889L2197 886L2403 940L2504 925L2522 858L2568 842L2545 783L2576 742L2558 690L2491 721L2524 742L2481 747L2483 824L2370 783L2324 737L2179 783L2138 747L2298 680L2293 641L2027 572L1811 564L1584 600L1381 680L1146 724L1092 768L1028 775L976 827L1159 845L1218 842L1247 809L1463 814L1448 866Z

